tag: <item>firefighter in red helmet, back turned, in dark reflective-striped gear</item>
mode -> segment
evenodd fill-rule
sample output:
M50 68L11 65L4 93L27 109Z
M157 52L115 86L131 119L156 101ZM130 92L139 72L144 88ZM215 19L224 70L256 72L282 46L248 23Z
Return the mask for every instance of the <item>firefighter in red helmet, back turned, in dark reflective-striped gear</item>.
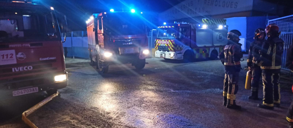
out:
M260 66L263 77L263 103L258 107L274 109L280 107L280 71L284 41L279 38L281 32L277 24L270 24L265 28L268 40L262 46L260 58L254 66Z

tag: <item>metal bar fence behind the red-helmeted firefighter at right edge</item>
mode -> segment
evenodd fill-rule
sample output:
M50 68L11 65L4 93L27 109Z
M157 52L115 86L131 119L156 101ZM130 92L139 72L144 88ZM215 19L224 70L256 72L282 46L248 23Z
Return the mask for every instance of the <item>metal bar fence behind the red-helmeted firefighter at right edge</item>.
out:
M287 58L287 50L289 46L292 44L292 38L293 38L293 15L268 20L267 25L269 24L277 24L279 26L280 31L282 32L280 35L280 38L284 41L284 52L282 55L282 69L289 70L285 64L286 64L286 58Z

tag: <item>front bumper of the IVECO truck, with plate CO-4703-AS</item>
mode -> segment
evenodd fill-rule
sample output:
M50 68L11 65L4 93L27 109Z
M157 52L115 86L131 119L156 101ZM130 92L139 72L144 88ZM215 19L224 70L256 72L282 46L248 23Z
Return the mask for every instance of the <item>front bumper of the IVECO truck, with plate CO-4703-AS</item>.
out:
M55 77L64 75L64 80L56 82ZM38 76L15 78L13 80L0 81L0 96L11 97L13 91L38 87L38 92L47 91L49 89L62 89L68 85L67 72L59 72L53 74L43 74Z

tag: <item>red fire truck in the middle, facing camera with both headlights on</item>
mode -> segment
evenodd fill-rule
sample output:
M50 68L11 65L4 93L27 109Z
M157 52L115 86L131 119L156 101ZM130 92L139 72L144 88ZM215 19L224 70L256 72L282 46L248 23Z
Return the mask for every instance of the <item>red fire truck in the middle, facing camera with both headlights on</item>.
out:
M93 14L86 22L91 63L101 73L108 72L109 65L114 63L144 68L149 49L140 13L104 12Z

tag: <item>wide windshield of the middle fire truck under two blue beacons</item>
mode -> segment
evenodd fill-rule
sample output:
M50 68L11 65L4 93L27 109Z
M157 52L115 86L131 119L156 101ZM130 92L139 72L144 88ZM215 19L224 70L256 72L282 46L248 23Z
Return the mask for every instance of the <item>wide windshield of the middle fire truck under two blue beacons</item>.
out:
M144 20L137 14L113 13L103 18L104 28L110 35L146 34Z

